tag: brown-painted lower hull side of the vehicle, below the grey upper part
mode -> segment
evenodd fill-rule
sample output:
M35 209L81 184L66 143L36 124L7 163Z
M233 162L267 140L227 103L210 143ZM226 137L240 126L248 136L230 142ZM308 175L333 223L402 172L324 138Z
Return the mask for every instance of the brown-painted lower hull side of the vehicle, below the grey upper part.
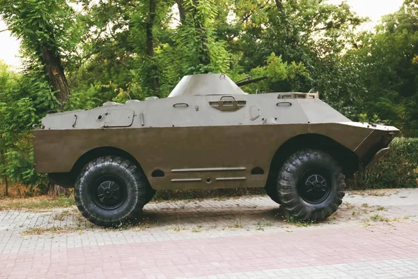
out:
M388 133L353 124L37 129L36 170L70 173L84 154L111 147L133 156L155 190L263 187L276 151L294 137L323 135L353 151L361 162L376 139ZM155 177L157 170L164 176Z

